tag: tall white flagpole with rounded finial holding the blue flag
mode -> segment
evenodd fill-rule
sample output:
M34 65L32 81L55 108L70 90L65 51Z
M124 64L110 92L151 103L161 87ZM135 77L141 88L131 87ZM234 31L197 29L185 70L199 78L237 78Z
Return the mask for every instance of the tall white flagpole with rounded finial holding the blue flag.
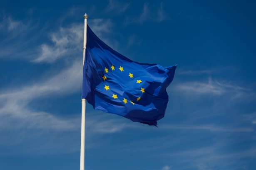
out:
M87 18L88 18L88 15L85 14L84 15L85 27L84 27L83 66L84 66L84 63L85 63ZM82 99L80 170L85 170L85 103L86 103L85 99Z

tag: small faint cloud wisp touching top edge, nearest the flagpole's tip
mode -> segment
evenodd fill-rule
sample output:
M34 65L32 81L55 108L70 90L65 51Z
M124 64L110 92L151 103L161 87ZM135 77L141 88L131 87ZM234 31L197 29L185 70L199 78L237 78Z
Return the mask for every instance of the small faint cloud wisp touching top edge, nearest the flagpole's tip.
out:
M120 3L116 0L109 0L109 3L106 7L107 12L114 12L120 14L125 12L129 7L129 3Z

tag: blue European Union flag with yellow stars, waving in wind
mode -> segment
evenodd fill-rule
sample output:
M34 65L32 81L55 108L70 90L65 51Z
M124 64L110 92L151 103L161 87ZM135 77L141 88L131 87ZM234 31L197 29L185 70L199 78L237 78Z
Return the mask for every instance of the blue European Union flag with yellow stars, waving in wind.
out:
M157 125L176 66L137 63L104 44L87 26L82 98L94 109Z

